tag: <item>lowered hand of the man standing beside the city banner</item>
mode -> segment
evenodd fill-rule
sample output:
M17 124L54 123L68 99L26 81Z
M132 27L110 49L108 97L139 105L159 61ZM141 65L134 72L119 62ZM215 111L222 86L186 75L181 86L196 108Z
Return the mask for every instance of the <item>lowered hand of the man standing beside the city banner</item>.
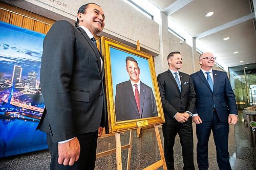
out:
M72 166L79 158L80 155L80 143L75 137L74 139L58 144L58 163L63 165Z

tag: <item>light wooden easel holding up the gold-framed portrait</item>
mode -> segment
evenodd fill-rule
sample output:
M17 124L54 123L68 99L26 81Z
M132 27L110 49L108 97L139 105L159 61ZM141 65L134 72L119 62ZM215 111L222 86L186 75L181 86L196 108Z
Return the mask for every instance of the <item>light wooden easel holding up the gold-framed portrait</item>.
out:
M140 44L139 41L137 41L137 50L140 50ZM154 125L155 128L155 132L156 132L156 137L157 137L157 143L158 143L158 148L160 151L160 157L161 159L155 163L153 163L150 166L147 166L146 168L144 168L144 170L152 170L152 169L157 169L161 166L163 166L164 170L167 170L167 166L165 163L165 158L164 158L164 152L163 152L163 147L162 147L162 142L161 142L161 138L160 138L160 134L159 134L159 130L158 130L158 126ZM122 169L122 156L121 156L121 151L128 149L128 157L127 157L127 167L126 169L129 170L130 169L130 164L131 164L131 156L132 156L132 143L133 143L133 130L130 130L130 140L129 140L129 144L123 145L121 146L121 133L124 132L118 132L115 133L115 138L116 138L116 148L109 150L109 151L104 151L101 153L98 153L96 155L96 158L100 158L106 155L110 155L116 152L116 166L117 166L117 170L121 170ZM137 128L136 129L137 132L137 137L140 137L140 133L141 133L141 128ZM110 136L110 135L105 135L105 137Z

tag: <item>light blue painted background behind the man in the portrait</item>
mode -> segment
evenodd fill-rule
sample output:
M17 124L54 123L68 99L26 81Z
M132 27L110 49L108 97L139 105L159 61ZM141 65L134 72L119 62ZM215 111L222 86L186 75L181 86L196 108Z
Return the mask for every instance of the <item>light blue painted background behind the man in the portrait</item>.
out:
M112 81L113 81L113 95L114 100L116 96L116 85L127 80L130 80L130 76L126 71L126 57L130 56L135 58L139 64L140 68L140 81L148 86L150 86L154 93L153 83L150 74L150 66L148 60L135 56L130 53L126 53L116 48L110 47L110 56L111 56L111 69L112 69Z

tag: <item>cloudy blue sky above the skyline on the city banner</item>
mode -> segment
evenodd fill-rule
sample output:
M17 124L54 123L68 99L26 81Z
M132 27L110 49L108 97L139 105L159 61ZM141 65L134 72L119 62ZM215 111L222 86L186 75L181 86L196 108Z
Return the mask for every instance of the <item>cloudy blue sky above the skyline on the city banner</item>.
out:
M11 78L13 66L19 65L23 67L22 79L27 79L29 71L35 71L39 80L45 34L1 21L0 30L0 72Z

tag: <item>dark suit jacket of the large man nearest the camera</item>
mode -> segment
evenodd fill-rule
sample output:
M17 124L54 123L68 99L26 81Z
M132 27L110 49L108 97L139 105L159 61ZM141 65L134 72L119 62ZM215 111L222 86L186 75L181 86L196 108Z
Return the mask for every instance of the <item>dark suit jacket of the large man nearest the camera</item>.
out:
M46 109L37 129L57 142L104 126L104 69L86 32L68 21L57 21L43 49L40 86Z

